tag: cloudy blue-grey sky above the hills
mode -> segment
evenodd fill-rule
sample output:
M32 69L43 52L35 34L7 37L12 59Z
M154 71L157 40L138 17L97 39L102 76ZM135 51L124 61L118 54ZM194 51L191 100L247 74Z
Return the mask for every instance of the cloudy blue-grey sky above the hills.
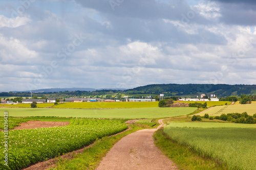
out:
M256 1L2 0L0 91L256 84Z

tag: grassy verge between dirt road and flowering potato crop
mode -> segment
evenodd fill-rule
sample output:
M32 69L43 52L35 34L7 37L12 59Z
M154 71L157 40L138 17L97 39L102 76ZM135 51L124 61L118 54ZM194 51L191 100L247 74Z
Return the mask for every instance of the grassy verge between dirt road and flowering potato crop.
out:
M82 153L73 155L73 159L61 159L54 169L95 169L100 160L121 138L143 128L132 125L132 130L125 131L115 136L103 137L94 142L93 146L85 149ZM50 168L53 169L53 168Z

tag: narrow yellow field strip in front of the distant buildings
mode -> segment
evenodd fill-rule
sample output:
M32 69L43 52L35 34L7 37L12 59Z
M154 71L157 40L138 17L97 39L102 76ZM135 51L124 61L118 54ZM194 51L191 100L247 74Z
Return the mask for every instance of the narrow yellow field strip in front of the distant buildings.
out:
M71 102L63 103L54 108L147 108L158 107L158 102Z

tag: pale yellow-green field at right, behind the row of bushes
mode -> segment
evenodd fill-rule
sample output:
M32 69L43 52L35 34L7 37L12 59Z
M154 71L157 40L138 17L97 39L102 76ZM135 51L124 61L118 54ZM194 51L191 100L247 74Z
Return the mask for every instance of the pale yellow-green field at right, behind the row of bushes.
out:
M227 113L236 113L236 112L237 113L247 112L249 115L253 115L254 113L256 113L256 104L216 106L199 115L204 115L205 113L207 113L209 114L209 116L219 116L222 113L227 114Z

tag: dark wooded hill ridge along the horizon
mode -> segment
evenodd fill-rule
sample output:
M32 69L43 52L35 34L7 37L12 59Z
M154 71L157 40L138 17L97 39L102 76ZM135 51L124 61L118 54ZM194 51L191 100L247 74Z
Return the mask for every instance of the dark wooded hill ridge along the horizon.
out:
M35 90L39 91L39 90ZM34 92L34 91L33 91ZM241 94L255 95L256 94L256 85L228 85L228 84L151 84L146 86L140 86L128 90L96 90L96 91L59 91L59 92L42 92L36 93L33 95L45 96L45 97L74 97L74 96L105 96L109 95L111 98L112 95L118 94L143 94L152 95L153 97L156 94L163 93L164 96L199 96L202 93L206 95L215 94L218 98L226 96L240 96ZM30 92L1 92L0 96L25 96L30 97ZM134 95L137 96L137 95Z

